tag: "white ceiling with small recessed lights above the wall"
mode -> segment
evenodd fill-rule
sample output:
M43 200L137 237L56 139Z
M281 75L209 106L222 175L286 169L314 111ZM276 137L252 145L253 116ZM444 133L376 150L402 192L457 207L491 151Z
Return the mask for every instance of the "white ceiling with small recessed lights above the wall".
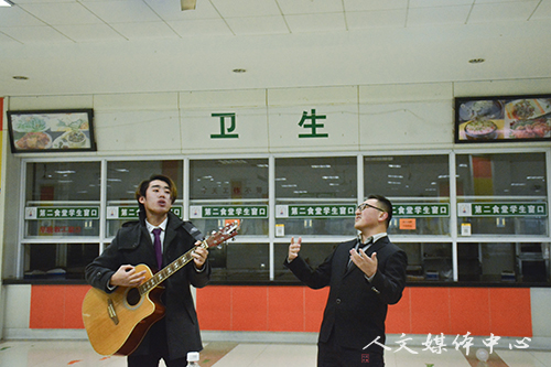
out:
M0 96L551 77L551 0L12 1Z

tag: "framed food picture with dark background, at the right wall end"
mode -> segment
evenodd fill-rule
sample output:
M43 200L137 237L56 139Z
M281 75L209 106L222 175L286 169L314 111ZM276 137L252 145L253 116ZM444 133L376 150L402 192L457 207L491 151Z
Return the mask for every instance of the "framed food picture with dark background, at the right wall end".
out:
M551 95L455 98L455 142L551 140Z

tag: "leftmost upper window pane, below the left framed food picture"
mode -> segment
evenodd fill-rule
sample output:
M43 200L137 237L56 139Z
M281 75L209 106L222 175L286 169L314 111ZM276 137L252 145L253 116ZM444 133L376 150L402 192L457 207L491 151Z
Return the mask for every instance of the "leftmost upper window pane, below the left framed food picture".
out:
M99 236L99 162L28 163L25 238Z

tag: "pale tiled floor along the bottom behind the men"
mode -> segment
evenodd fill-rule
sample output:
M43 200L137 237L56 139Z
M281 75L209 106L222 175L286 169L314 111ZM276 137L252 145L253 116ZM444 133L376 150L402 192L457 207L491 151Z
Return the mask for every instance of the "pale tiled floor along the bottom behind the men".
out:
M413 354L417 352L418 354ZM441 354L411 348L385 355L387 367L551 367L551 352L498 349L487 363L454 348ZM201 353L201 367L315 367L314 344L213 342ZM97 355L86 341L0 342L1 367L122 367L125 357ZM160 366L164 366L161 363Z

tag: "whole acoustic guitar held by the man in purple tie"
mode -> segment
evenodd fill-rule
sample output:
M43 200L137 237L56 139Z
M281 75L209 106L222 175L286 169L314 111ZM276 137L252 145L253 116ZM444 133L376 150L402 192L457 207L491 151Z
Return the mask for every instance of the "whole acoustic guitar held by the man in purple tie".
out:
M203 240L198 247L209 248L237 235L239 223L235 222ZM136 266L136 271L145 270L145 279L138 287L117 287L112 293L91 288L83 301L83 320L88 339L94 349L104 356L131 354L145 336L148 330L164 316L161 303L163 287L160 284L193 260L191 249L155 274L145 265Z

